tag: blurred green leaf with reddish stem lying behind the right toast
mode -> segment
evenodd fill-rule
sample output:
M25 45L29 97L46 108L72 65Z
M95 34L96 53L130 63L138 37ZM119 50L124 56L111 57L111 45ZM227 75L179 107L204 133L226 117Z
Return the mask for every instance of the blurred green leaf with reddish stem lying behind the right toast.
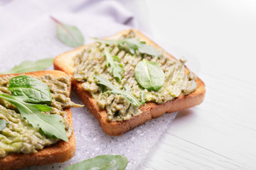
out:
M52 16L50 16L50 18L57 23L57 36L62 42L71 47L79 47L84 44L85 40L83 35L76 26L61 23Z

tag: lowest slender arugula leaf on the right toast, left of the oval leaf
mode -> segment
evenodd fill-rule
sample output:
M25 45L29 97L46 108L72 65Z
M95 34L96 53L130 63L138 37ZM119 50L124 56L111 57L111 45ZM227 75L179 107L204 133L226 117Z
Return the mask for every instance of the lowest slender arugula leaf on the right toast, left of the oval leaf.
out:
M117 88L117 86L114 86L108 79L105 79L104 77L100 77L97 76L95 77L99 82L98 84L102 84L104 86L107 86L108 88L111 89L111 91L106 91L105 93L112 93L112 94L120 94L122 96L124 96L124 98L129 101L129 103L132 103L135 106L141 106L142 103L140 103L136 97L134 97L131 92L129 91L129 89L127 88L127 86L124 86L124 88L126 89L126 91L122 91L120 89Z

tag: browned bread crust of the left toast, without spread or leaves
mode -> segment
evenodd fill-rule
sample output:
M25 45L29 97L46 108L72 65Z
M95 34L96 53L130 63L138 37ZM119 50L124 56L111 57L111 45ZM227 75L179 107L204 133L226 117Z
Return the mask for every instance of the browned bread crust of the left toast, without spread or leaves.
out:
M41 72L28 72L22 73L28 76L41 77L46 74L51 74L54 77L68 77L67 74L60 71L41 71ZM9 74L18 76L20 74ZM0 75L4 77L6 74ZM69 91L71 88L69 89ZM64 111L67 112L67 120L70 125L73 127L72 122L72 113L70 108L65 108ZM57 162L65 162L68 159L71 159L75 154L75 135L72 132L72 135L69 137L68 142L63 140L58 141L57 143L44 147L41 150L38 150L36 153L23 154L23 153L9 153L6 157L0 158L0 170L8 169L21 169L26 166L34 165L44 165L44 164L53 164Z

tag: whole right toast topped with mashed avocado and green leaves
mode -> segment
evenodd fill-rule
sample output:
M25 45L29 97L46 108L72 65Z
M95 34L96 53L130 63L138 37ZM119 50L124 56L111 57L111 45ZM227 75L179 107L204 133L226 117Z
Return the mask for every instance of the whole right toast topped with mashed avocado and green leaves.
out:
M205 85L138 30L124 30L55 57L107 135L203 102Z

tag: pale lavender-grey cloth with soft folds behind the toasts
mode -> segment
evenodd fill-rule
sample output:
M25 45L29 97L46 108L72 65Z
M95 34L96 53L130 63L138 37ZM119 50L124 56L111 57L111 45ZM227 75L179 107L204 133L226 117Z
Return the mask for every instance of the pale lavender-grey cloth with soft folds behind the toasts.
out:
M0 4L0 72L23 60L55 57L73 48L56 38L55 23L77 26L85 36L102 38L120 30L136 28L149 33L144 1L114 0L13 0Z

